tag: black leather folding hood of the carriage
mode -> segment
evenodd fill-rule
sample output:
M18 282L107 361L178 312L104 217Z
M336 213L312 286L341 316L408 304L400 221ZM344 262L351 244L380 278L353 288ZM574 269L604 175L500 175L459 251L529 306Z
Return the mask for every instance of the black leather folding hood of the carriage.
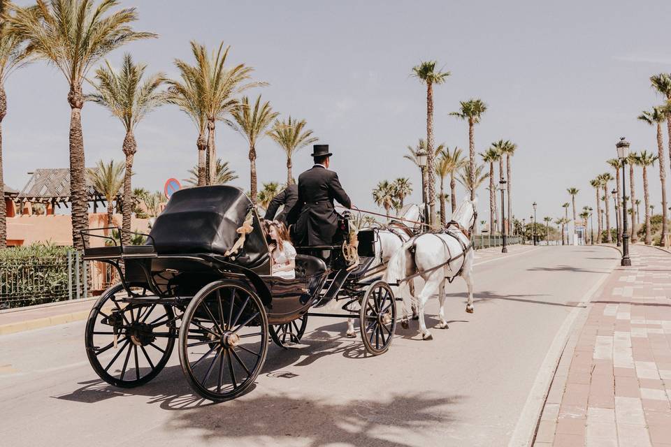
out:
M150 235L159 254L211 253L224 255L233 247L238 228L252 213L252 232L247 234L238 261L258 265L268 256L268 246L254 205L233 186L199 186L176 191L157 217Z

